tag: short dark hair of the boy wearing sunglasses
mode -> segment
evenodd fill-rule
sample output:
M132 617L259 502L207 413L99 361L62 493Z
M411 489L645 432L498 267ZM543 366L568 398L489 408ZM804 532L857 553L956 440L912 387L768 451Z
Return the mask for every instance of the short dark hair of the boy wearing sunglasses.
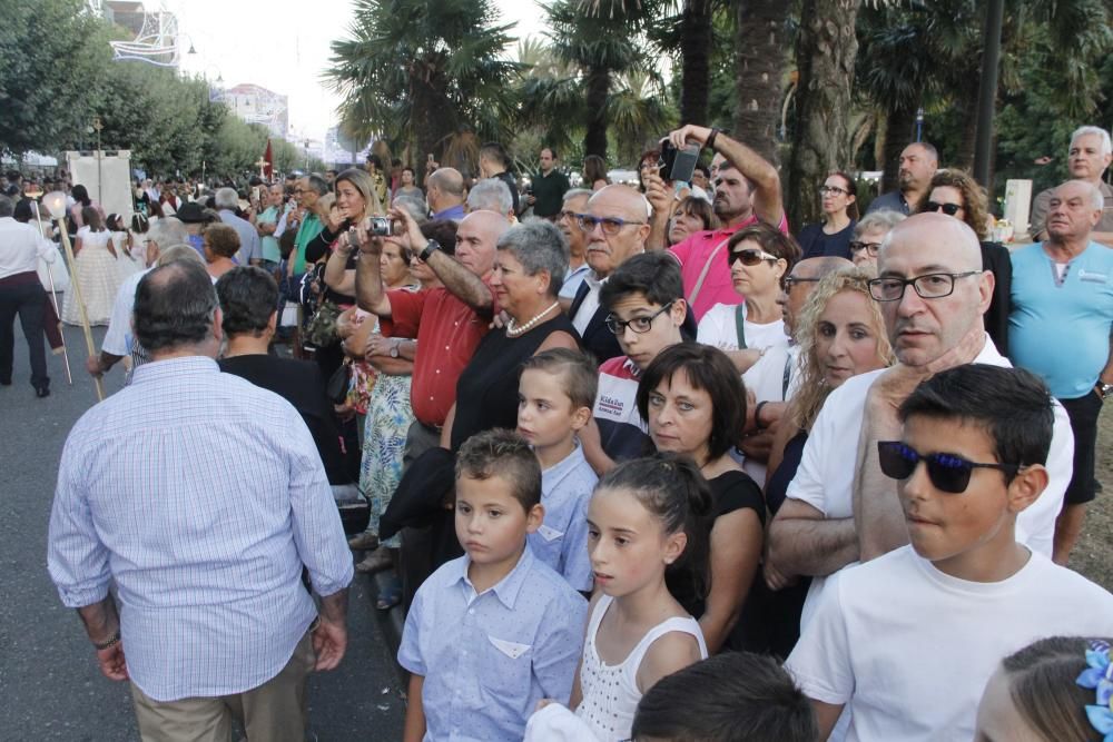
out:
M902 423L913 415L978 425L1001 464L1047 463L1055 425L1051 393L1023 368L965 364L940 372L900 405Z

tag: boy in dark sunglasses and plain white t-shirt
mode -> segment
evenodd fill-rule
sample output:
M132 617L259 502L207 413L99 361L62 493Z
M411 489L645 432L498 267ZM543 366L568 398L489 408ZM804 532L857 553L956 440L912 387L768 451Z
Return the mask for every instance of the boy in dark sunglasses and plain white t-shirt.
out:
M1017 543L1016 516L1047 485L1054 427L1032 374L967 364L900 405L877 444L910 544L828 582L786 666L827 739L969 740L1005 655L1052 635L1113 631L1113 595Z

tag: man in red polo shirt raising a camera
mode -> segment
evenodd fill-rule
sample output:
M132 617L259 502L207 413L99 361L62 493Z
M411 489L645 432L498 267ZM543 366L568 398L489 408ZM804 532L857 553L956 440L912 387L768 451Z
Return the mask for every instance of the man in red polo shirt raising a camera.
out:
M408 215L397 215L408 224ZM495 245L509 228L506 218L494 211L469 214L456 230L454 256L434 240L426 244L412 238L413 250L444 284L417 293L385 290L378 264L382 244L372 238L359 246L361 258L365 258L356 268L359 308L378 315L384 336L417 338L410 390L417 422L406 438L407 462L440 442L449 410L456 402L456 379L495 314L495 298L486 281L494 265Z

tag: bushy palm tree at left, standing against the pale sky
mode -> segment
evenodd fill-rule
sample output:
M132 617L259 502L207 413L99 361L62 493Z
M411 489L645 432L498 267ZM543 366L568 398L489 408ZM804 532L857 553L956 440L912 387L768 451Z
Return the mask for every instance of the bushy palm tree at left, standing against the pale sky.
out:
M345 128L434 155L464 135L509 139L518 65L502 56L512 24L496 18L490 0L355 0L325 75L344 97Z

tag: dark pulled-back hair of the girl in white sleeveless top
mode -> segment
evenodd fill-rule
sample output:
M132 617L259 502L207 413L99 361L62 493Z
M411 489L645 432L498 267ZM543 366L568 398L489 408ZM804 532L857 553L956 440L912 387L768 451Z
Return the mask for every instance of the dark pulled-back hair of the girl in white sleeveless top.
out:
M603 475L597 489L624 489L661 521L669 535L684 532L688 545L679 560L666 570L666 581L687 582L699 600L711 586L711 488L696 463L677 454L656 454L623 462Z

